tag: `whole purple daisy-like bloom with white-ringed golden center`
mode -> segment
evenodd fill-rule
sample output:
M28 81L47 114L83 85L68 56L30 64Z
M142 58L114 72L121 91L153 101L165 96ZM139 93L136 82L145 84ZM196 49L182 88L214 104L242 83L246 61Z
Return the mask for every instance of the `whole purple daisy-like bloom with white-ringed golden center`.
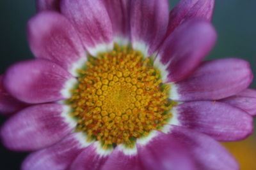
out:
M17 111L3 144L33 151L22 169L238 169L217 141L252 132L256 95L248 62L202 62L213 6L183 0L169 15L167 0L38 1L36 59L1 79L1 106Z

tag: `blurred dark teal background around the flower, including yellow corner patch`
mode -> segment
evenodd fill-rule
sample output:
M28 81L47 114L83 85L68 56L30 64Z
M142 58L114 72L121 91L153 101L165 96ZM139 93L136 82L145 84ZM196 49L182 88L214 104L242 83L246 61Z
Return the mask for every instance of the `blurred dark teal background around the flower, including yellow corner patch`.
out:
M178 0L170 0L170 9ZM216 0L213 25L218 41L207 59L239 57L248 60L256 75L256 1ZM17 61L32 59L26 41L26 22L35 15L35 1L0 1L0 74ZM256 89L256 79L251 87ZM6 120L0 117L0 125ZM256 169L256 134L250 138L224 143L241 164L242 170ZM0 169L20 169L27 153L15 153L0 147Z

